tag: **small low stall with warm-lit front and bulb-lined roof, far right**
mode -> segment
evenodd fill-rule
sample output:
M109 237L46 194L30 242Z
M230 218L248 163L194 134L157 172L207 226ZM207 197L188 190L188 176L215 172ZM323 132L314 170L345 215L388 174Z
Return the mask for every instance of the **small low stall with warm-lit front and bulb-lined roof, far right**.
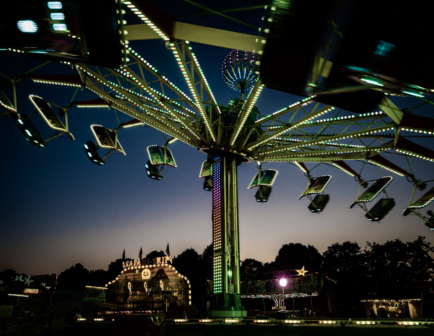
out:
M368 318L415 319L421 318L420 298L366 299L365 313Z

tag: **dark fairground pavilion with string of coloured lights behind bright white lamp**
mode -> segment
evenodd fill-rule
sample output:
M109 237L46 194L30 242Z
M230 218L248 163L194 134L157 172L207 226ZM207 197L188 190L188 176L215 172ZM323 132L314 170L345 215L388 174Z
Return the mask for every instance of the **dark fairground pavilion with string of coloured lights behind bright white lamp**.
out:
M285 276L285 272L272 272ZM270 309L270 301L273 300L271 312L283 309L283 294L286 310L290 310L293 316L323 316L327 312L334 313L335 305L333 292L335 281L327 277L325 273L311 273L302 277L288 277L285 287L279 284L279 279L241 281L241 298L244 299L246 309L257 310L263 307L263 311ZM246 299L262 299L254 304ZM302 299L304 298L304 299ZM261 308L262 308L261 307ZM250 309L249 309L250 310ZM270 311L269 311L270 313Z

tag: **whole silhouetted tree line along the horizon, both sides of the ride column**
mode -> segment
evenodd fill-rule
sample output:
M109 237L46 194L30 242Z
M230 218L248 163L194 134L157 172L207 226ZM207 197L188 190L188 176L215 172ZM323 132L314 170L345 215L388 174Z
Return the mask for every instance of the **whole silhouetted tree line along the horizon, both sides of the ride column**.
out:
M274 278L276 272L303 266L308 273L325 272L336 281L336 307L345 311L360 305L363 298L419 297L421 288L415 288L415 281L428 281L432 289L434 259L430 253L433 252L434 248L421 236L405 243L400 239L384 244L366 242L363 249L356 242L345 241L330 245L322 254L312 245L288 243L282 245L273 261L262 263L252 258L244 259L240 273L241 280L247 281ZM164 251L151 251L145 258L164 255ZM187 248L173 258L172 265L191 282L192 303L199 309L207 291L206 281L212 280L212 258L212 243L202 254L194 248ZM56 288L82 290L85 285L103 287L122 269L121 258L112 261L107 271L89 271L78 263L59 274ZM17 275L20 274L12 269L0 272L0 287L6 287Z

